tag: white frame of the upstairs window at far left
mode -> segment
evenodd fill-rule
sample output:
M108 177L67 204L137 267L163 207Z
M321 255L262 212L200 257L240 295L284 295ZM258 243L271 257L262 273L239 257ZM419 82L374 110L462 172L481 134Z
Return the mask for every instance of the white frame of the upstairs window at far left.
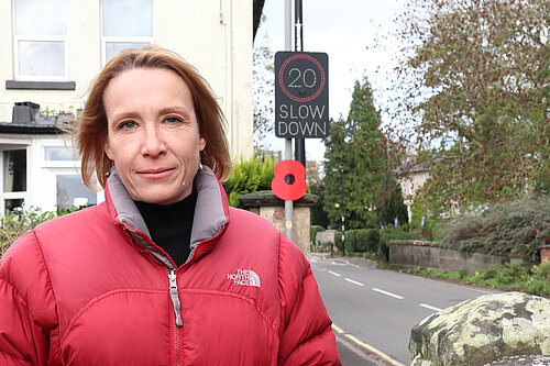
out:
M68 80L68 36L67 32L65 35L38 35L38 34L16 34L16 14L15 14L15 1L12 0L12 30L13 30L13 62L14 62L14 78L15 80L32 80L32 81L57 81L57 80ZM68 14L67 14L68 16ZM68 20L68 19L67 19ZM40 76L40 75L21 75L19 70L19 42L63 42L65 45L64 58L65 58L65 69L64 75L58 76Z

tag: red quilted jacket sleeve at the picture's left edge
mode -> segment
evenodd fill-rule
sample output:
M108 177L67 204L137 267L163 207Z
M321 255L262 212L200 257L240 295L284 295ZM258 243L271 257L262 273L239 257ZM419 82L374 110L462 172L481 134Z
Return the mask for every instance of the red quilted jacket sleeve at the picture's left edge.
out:
M34 234L21 236L0 260L0 365L46 365L54 312L47 269Z

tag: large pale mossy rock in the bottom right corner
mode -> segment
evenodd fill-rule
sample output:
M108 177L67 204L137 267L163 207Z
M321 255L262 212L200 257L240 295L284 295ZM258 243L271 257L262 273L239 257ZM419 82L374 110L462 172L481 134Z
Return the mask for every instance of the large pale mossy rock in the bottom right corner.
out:
M515 355L550 355L550 300L485 295L413 328L411 366L482 366Z

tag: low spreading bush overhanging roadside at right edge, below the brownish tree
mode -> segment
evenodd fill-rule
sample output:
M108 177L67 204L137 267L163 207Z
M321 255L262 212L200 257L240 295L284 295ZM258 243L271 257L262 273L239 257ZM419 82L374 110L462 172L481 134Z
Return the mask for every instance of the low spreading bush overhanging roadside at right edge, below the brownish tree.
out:
M458 217L440 244L469 253L519 255L538 263L541 245L550 244L550 197L490 208L479 215Z

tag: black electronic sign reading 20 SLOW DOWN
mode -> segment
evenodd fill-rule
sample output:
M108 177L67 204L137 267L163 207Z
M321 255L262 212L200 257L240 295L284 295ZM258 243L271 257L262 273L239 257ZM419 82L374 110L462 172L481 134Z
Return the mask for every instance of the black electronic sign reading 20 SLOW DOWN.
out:
M320 138L329 133L329 57L326 53L275 54L275 135Z

